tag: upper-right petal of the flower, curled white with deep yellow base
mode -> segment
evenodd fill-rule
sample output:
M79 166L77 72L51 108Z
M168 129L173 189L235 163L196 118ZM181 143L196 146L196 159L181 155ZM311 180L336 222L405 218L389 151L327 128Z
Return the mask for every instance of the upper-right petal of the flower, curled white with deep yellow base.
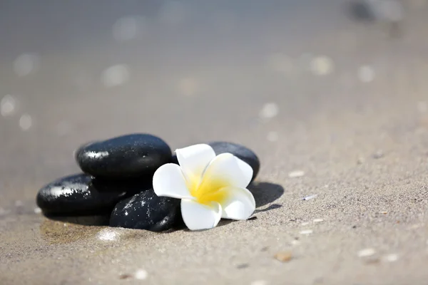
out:
M222 153L217 155L205 169L198 192L194 196L202 197L228 186L245 188L250 180L248 180L248 175L241 170L235 156L230 153Z

